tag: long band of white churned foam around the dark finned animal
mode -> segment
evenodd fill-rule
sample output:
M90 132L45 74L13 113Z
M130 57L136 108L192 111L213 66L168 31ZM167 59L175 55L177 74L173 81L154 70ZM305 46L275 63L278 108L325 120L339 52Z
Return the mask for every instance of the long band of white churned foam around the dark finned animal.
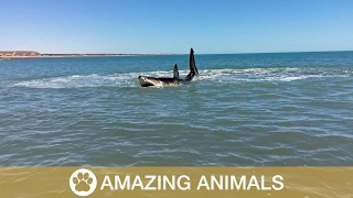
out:
M246 68L246 69L200 69L195 80L232 81L293 81L307 78L349 77L351 73L328 70L325 68ZM180 70L186 76L189 70ZM29 88L81 88L81 87L138 87L139 75L170 77L172 70L147 73L118 73L111 75L72 75L43 79L24 80L13 84L15 87Z

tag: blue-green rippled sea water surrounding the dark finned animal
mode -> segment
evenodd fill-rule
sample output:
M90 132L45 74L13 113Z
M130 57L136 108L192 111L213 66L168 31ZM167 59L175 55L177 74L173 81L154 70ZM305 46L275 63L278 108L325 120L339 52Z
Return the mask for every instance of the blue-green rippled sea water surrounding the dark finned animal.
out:
M0 62L0 166L353 166L353 52Z

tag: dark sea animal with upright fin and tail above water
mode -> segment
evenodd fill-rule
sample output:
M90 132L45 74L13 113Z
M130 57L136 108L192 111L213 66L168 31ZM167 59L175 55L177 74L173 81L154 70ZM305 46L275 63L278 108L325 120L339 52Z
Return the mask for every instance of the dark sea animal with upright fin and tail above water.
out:
M194 51L193 48L190 50L190 73L185 78L179 77L179 70L178 65L174 65L173 68L173 77L172 78L156 78L156 77L149 77L149 76L139 76L139 82L141 87L162 87L162 86L169 86L169 85L188 85L191 82L191 80L199 76L199 70L195 64L195 57L194 57Z

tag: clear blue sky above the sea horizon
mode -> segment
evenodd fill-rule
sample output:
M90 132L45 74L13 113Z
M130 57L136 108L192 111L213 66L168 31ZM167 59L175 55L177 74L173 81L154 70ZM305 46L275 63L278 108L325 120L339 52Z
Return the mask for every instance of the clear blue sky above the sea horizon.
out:
M353 0L1 0L0 51L353 51Z

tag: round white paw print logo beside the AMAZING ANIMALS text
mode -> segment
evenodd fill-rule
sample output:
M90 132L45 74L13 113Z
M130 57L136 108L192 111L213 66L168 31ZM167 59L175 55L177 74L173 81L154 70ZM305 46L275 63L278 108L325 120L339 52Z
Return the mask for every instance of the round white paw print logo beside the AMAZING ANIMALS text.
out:
M89 196L97 187L97 178L89 169L77 169L69 177L69 188L77 196Z

